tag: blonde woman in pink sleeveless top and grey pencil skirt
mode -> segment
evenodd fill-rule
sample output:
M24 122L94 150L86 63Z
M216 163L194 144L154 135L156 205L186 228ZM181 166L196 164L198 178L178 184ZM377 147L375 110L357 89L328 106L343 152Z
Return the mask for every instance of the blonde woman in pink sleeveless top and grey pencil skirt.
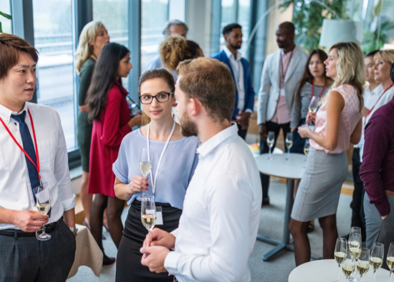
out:
M327 77L334 79L330 92L315 114L315 131L300 126L300 136L310 139L306 169L295 195L289 224L297 266L309 262L309 221L319 219L323 230L323 259L334 259L338 238L337 209L342 184L348 174L347 150L357 144L362 131L365 84L364 54L357 43L337 43L324 61Z

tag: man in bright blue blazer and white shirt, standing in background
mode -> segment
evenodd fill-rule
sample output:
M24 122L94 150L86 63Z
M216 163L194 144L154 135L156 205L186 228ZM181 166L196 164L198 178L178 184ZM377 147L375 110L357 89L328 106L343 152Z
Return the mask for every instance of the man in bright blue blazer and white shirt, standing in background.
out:
M238 52L242 46L242 26L238 23L223 28L226 45L219 54L213 56L225 63L230 69L236 86L233 121L238 125L238 135L245 140L249 127L249 118L253 113L254 90L249 62Z

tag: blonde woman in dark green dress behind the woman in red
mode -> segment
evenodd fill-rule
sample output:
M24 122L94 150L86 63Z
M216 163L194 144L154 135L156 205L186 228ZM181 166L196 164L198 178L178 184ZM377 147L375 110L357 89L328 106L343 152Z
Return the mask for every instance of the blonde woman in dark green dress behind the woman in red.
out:
M93 76L94 66L103 47L110 42L107 29L101 21L87 23L79 37L79 43L75 55L77 74L79 75L78 104L80 113L78 115L77 140L79 152L81 153L82 177L79 195L85 213L84 225L89 228L90 208L93 195L87 193L89 185L89 156L90 142L93 124L88 120L88 107L86 104L87 90Z

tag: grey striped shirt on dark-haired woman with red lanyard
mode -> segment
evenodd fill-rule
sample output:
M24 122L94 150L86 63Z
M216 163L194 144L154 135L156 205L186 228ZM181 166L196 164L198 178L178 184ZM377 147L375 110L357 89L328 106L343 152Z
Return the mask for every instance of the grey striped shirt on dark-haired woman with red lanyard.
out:
M299 85L297 85L297 88ZM313 86L313 96L319 96L321 89L323 86L314 85ZM321 98L329 92L330 85L326 85L323 93L321 94ZM297 128L300 124L301 119L305 119L308 115L308 107L311 102L311 92L312 92L312 84L306 82L304 86L301 88L300 96L295 96L293 101L293 107L291 109L291 128ZM294 93L295 95L295 93Z

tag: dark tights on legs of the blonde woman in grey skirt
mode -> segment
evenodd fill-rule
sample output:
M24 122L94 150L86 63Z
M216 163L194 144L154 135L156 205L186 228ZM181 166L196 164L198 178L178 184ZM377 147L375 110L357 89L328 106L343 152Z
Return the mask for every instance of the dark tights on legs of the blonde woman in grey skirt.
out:
M323 259L334 259L335 244L338 238L336 215L319 218L323 229ZM309 222L290 220L289 229L294 240L295 265L299 266L311 260L311 245L308 238Z

